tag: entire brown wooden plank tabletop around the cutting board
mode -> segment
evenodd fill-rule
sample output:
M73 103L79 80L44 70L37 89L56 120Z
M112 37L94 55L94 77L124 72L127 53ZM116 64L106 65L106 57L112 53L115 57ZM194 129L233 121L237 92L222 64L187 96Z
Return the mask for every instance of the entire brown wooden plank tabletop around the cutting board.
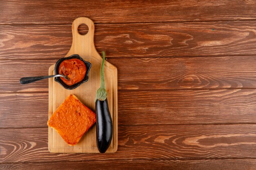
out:
M78 17L118 69L113 154L49 153L48 80L19 84ZM0 169L255 170L256 1L0 1Z

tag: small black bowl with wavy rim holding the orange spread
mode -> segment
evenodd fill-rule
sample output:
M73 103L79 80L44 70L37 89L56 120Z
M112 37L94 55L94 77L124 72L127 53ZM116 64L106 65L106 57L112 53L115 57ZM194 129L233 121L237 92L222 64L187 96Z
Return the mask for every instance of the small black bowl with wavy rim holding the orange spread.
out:
M82 57L80 57L80 55L78 54L74 54L74 55L71 55L70 57L64 57L64 58L61 58L60 60L58 60L55 64L55 74L58 74L58 68L61 64L61 62L63 62L64 60L69 60L69 59L73 59L73 58L76 58L76 59L79 59L81 61L84 62L85 66L86 66L86 73L85 73L85 77L78 83L76 84L73 84L72 86L69 86L67 84L65 84L60 77L55 77L55 81L58 82L59 84L61 84L61 86L63 86L64 88L68 89L68 90L73 90L74 88L77 88L78 86L80 86L81 84L83 84L84 82L87 82L88 81L88 73L90 71L90 68L91 68L91 63L90 62L86 62L85 60L83 60Z

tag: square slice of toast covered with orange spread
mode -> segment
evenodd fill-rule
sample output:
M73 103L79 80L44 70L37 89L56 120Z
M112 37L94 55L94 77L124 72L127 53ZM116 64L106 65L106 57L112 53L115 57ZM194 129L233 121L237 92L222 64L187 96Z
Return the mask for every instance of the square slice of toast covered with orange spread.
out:
M47 121L67 144L74 146L96 122L96 114L83 105L75 95L69 95Z

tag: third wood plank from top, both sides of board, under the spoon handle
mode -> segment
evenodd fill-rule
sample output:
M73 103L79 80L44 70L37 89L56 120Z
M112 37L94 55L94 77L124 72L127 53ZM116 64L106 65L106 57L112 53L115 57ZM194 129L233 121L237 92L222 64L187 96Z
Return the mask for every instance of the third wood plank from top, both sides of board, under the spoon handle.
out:
M57 60L0 61L0 92L48 91L48 80L21 85L26 76L47 75ZM118 68L118 89L256 88L256 56L108 59ZM33 69L36 68L36 71ZM234 68L236 71L234 71ZM8 81L7 78L8 77Z

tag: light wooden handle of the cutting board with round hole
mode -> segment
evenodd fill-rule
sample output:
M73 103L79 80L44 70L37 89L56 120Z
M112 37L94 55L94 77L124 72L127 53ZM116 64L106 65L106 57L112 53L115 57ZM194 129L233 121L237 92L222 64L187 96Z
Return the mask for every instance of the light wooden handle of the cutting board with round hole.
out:
M86 24L89 28L88 33L81 35L78 32L78 26L81 24ZM80 17L76 18L72 24L72 35L73 41L70 51L67 53L66 57L73 54L78 54L82 58L86 56L97 56L100 57L95 49L93 37L94 37L94 23L89 18Z

